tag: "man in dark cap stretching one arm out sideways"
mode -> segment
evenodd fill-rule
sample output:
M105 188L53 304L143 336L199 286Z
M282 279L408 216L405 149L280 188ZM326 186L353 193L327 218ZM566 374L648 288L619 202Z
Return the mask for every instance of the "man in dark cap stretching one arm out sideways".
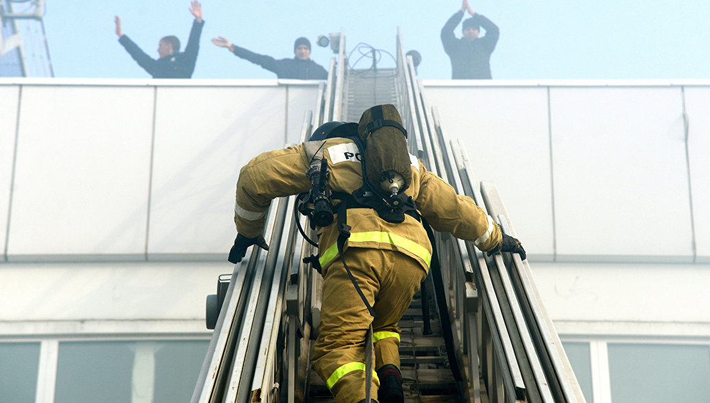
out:
M271 56L259 55L251 50L240 48L234 43L229 42L229 39L220 36L212 38L214 45L222 48L227 48L234 55L242 59L260 65L261 67L276 73L278 78L295 78L295 79L327 79L328 72L310 58L310 40L307 38L298 38L293 44L293 59L276 60Z

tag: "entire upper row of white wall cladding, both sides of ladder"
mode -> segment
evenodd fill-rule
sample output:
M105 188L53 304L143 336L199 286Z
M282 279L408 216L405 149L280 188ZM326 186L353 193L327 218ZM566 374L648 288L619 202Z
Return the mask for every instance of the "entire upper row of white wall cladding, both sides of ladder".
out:
M223 255L239 168L298 143L317 96L146 82L0 87L7 260ZM445 83L427 101L532 258L710 261L710 87Z

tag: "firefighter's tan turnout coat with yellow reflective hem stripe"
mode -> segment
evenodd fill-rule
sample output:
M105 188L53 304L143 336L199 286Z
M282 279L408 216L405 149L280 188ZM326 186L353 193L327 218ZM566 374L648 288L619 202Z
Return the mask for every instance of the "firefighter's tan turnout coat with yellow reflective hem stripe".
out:
M327 159L333 191L352 193L362 186L360 155L349 138L309 141L263 153L239 172L234 208L237 231L249 238L260 235L272 199L310 190L305 170L314 156ZM410 157L413 180L405 194L413 197L431 226L471 241L481 250L495 248L501 242L501 231L491 217L470 197L456 194L451 185ZM432 247L422 224L413 217L405 215L403 223L388 223L373 209L349 209L347 223L352 228L345 248L397 250L428 270ZM337 221L320 228L319 235L320 263L326 269L338 257Z

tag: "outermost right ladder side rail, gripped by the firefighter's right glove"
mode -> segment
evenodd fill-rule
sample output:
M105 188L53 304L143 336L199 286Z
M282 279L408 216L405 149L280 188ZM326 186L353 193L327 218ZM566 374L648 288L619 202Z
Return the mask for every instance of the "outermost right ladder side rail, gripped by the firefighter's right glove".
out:
M492 182L481 182L481 192L487 199L486 204L491 204L491 212L496 214L498 221L502 221L501 229L509 231L508 235L510 236L516 236L495 185ZM579 387L577 377L574 376L572 365L569 364L567 353L559 340L550 315L547 314L537 286L532 280L528 261L520 260L520 256L517 254L512 255L509 271L515 280L515 291L526 312L525 318L528 320L528 326L532 332L537 355L547 373L552 392L555 393L559 401L584 402L584 395Z

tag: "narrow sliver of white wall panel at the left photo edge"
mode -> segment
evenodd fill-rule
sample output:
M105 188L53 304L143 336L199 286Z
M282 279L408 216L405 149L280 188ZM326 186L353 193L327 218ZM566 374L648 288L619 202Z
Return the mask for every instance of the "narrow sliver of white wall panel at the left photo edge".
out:
M15 85L0 87L0 260L5 259L19 92L20 87Z

